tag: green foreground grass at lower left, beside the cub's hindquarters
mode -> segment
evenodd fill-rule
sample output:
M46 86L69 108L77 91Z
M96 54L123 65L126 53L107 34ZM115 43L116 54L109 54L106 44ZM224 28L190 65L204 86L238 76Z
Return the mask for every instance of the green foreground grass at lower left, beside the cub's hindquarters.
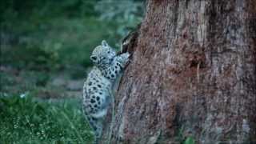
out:
M1 143L90 143L93 134L77 98L0 96Z

